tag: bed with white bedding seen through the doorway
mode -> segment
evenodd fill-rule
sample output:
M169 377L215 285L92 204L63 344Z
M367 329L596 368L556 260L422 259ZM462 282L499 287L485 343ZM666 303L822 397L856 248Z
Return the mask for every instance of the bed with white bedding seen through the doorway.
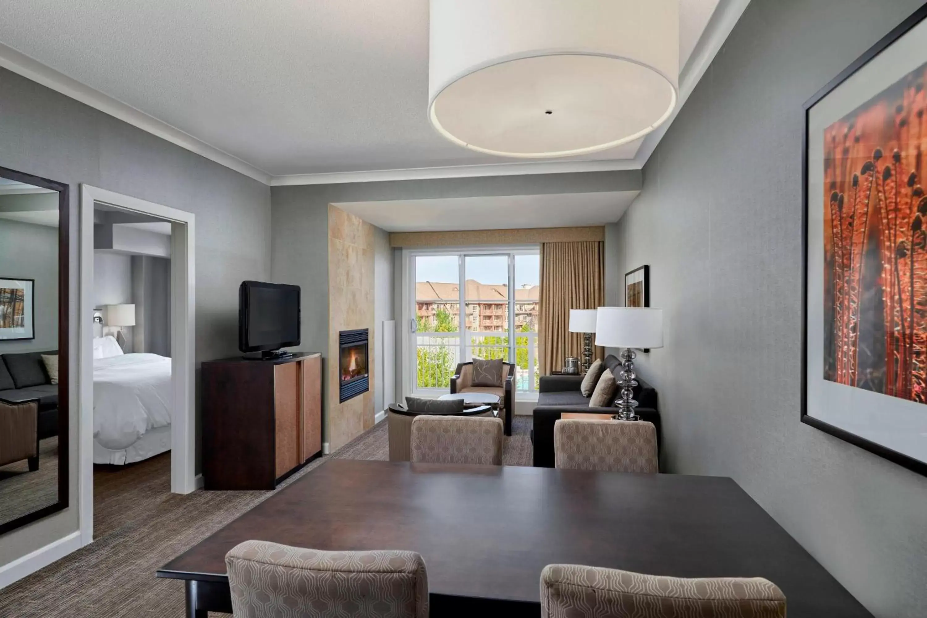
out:
M123 354L94 339L94 463L145 460L171 448L171 359Z

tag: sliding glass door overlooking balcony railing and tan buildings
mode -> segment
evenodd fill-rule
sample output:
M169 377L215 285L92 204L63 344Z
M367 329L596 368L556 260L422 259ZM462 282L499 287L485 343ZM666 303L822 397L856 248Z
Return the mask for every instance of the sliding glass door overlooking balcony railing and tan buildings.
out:
M413 391L448 392L458 362L514 362L515 387L537 389L537 250L414 254Z

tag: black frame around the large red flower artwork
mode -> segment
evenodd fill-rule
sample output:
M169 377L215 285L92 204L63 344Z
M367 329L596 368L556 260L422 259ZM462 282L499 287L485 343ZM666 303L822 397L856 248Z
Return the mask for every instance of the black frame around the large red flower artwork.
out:
M801 358L801 423L805 423L820 431L838 437L852 445L868 450L870 453L878 455L886 460L892 461L908 470L927 476L927 462L915 459L905 453L896 451L893 448L885 447L877 442L873 442L860 435L853 434L841 427L825 423L818 418L808 414L808 217L809 217L809 174L808 174L808 146L810 139L810 112L822 99L830 95L834 89L853 76L859 69L870 63L875 57L878 57L885 49L895 44L895 41L903 37L910 30L918 26L921 21L927 19L927 4L921 6L908 19L902 21L876 44L872 45L864 54L858 57L846 69L840 72L831 82L828 82L815 95L809 98L804 106L805 129L802 133L802 358ZM927 413L927 412L925 412Z

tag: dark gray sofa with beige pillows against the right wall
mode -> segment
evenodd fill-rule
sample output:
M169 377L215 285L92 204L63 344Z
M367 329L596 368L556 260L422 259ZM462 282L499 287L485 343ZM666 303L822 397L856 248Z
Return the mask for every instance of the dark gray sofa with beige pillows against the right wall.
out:
M605 366L613 373L621 371L621 361L615 356L605 357ZM585 412L590 414L614 414L616 398L609 402L607 408L590 408L589 397L583 397L579 386L581 375L542 375L538 393L538 405L534 408L531 441L534 445L534 465L538 468L553 467L553 423L560 420L564 412ZM660 413L657 411L656 390L640 377L634 387L634 399L638 402L635 410L641 421L654 423L656 427L657 447L660 446Z

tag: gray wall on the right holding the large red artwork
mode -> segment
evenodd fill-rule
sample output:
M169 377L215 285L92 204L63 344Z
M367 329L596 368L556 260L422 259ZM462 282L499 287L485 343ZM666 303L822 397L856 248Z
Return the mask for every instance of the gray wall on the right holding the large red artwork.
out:
M802 104L922 0L753 0L644 169L667 469L738 484L880 618L927 615L927 478L799 423Z

